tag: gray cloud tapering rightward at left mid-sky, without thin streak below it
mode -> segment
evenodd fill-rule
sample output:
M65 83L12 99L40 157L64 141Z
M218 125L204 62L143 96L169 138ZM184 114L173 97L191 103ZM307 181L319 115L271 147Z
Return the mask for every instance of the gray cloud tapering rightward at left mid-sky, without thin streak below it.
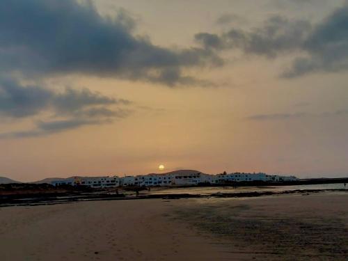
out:
M52 111L64 116L85 109L106 110L104 107L95 106L129 103L127 100L93 93L86 88L66 88L65 91L56 93L42 86L24 86L13 79L0 79L0 115L11 118L35 116L43 111Z

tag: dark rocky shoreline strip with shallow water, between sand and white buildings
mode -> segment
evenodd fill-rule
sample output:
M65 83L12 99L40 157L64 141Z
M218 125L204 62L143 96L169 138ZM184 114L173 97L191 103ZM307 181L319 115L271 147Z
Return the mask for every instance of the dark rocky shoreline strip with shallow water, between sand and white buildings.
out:
M198 187L191 187L197 189ZM207 188L207 187L204 187ZM214 188L214 187L212 187ZM277 189L280 187L276 187ZM288 187L285 187L288 188ZM190 188L186 188L190 189ZM155 192L154 192L155 191ZM102 200L142 200L142 199L180 199L180 198L253 198L260 196L282 195L282 194L306 194L306 193L323 193L329 191L341 191L347 193L348 189L285 189L276 190L273 187L255 187L249 191L241 191L229 189L224 191L212 191L209 193L182 193L180 188L161 189L163 193L156 193L156 189L152 192L129 193L129 191L24 191L24 193L0 193L0 208L11 206L35 206L35 205L56 205L67 204L84 201L102 201ZM170 193L166 193L166 192ZM175 193L175 191L177 191Z

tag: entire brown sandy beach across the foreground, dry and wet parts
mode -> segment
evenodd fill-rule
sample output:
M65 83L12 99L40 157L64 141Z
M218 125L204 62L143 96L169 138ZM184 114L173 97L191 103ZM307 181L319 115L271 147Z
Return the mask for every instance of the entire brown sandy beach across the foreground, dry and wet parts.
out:
M348 194L0 208L1 260L347 260Z

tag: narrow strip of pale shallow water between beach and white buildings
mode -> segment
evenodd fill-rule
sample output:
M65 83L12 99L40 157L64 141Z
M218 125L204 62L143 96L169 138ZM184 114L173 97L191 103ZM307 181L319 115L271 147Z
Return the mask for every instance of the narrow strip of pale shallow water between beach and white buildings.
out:
M336 184L313 184L313 185L296 185L296 186L265 186L265 187L187 187L187 188L152 188L151 194L200 194L210 195L212 193L238 193L238 192L254 192L254 191L292 191L296 189L347 189L343 183Z

